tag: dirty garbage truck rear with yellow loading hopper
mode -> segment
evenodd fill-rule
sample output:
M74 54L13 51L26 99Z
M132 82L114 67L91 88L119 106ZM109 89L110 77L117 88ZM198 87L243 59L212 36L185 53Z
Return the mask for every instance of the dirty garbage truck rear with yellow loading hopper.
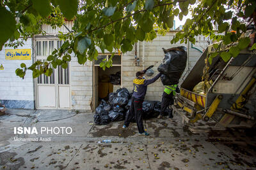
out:
M217 55L209 64L210 53L229 50L230 46L220 43L218 49L214 44L207 46L172 105L173 113L179 113L192 132L196 132L198 120L213 122L204 124L211 129L252 128L256 124L256 52L242 50L227 62Z

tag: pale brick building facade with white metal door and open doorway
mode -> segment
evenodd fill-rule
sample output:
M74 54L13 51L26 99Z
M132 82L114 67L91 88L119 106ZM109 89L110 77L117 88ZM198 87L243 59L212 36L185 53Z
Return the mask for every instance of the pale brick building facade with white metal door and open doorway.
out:
M77 58L72 55L72 60L67 69L61 66L54 69L52 76L41 75L33 79L31 71L27 71L25 78L19 78L15 69L24 62L27 66L36 60L44 61L54 50L60 48L62 41L58 39L59 31L65 33L72 29L72 22L66 22L65 26L51 29L43 25L42 29L46 35L37 35L26 41L25 45L17 49L30 49L30 60L6 60L6 50L0 52L0 64L4 69L0 70L0 101L7 108L25 109L65 109L79 111L93 111L97 107L100 98L120 87L126 87L132 91L132 80L136 71L141 71L150 65L154 65L154 75L157 67L161 64L164 53L162 48L172 46L186 46L188 48L188 66L184 76L195 65L202 51L209 45L210 40L204 36L197 36L195 45L175 44L170 41L179 31L170 31L165 36L157 35L151 42L139 42L134 45L131 52L122 53L113 57L113 67L103 71L99 67L100 60L109 58L109 54L100 53L98 60L87 61L80 65ZM140 60L140 62L135 62ZM120 85L109 86L108 76L120 73ZM147 77L150 78L150 77ZM182 81L182 78L180 79ZM160 80L148 86L147 100L161 101L163 84ZM103 97L102 97L103 96Z

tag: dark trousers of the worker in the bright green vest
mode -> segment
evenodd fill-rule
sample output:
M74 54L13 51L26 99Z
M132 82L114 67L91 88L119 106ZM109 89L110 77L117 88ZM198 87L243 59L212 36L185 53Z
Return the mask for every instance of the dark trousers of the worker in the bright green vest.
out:
M168 113L169 118L173 118L172 108L171 109L169 108L169 106L172 105L173 103L174 103L173 93L166 94L166 92L163 92L160 115L164 116L165 113Z

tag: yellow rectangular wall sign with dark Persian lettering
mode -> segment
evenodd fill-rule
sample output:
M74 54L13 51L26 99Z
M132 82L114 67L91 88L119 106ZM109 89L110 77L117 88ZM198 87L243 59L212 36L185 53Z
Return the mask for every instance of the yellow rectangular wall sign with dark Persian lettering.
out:
M6 60L31 60L31 49L5 50Z

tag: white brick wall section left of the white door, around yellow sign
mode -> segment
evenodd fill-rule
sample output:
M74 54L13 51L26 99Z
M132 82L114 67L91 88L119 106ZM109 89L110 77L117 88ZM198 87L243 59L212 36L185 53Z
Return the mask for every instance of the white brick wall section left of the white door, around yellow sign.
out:
M17 49L32 49L31 38L24 42L23 46L18 46ZM0 51L0 65L3 64L4 70L0 70L0 102L8 108L35 108L35 94L33 88L32 71L26 71L24 79L16 75L15 70L20 68L23 62L26 66L31 66L31 60L6 60L5 50L13 49L3 47ZM31 50L32 55L32 50Z

